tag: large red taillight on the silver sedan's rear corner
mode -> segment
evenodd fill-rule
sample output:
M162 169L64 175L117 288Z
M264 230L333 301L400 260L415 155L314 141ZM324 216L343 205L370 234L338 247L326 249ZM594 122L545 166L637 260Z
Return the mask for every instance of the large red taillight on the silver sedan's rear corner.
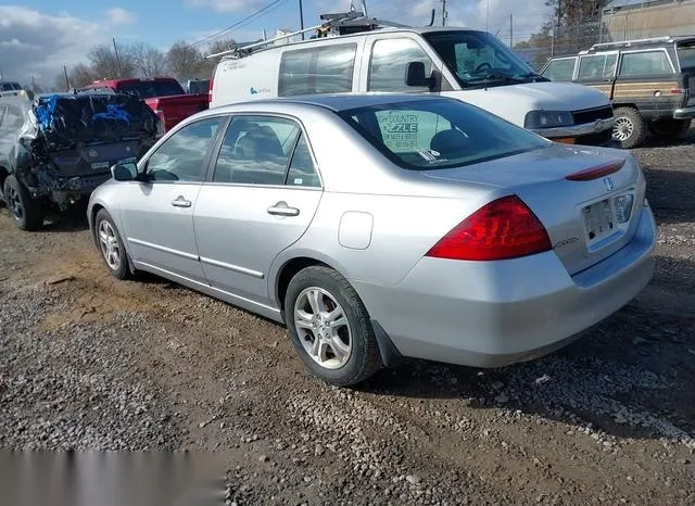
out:
M479 208L454 227L427 256L495 261L552 250L545 227L517 195L503 197Z

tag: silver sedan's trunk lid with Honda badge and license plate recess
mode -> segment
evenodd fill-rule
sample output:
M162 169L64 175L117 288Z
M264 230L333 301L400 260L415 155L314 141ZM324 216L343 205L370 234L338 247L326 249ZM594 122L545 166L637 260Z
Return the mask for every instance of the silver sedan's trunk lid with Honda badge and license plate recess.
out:
M627 152L546 149L475 166L428 170L427 177L492 185L517 194L545 226L570 275L624 246L644 203L644 176Z

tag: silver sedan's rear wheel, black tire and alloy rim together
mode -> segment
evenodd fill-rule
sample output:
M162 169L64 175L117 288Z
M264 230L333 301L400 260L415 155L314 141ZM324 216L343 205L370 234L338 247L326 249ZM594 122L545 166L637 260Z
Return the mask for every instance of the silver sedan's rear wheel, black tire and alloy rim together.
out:
M325 382L354 385L381 368L369 314L333 269L313 266L296 274L285 298L285 315L300 358Z

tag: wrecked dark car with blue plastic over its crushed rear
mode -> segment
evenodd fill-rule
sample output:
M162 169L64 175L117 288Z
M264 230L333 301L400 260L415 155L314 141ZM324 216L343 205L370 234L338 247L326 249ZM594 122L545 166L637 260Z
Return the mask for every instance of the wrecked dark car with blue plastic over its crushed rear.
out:
M39 229L49 210L85 202L112 165L136 162L161 134L130 94L0 98L0 200L18 228Z

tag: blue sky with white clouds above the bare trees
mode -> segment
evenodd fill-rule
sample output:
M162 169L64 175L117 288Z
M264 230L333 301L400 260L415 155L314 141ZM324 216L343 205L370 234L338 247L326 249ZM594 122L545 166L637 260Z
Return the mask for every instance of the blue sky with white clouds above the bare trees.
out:
M111 43L146 42L166 50L177 40L200 41L239 22L273 0L23 0L0 3L0 75L3 79L52 84L63 65L87 62L89 50ZM299 29L299 1L278 0L264 15L226 36L256 40L263 30ZM359 2L356 2L358 4ZM366 0L369 16L427 25L433 8L441 24L441 0ZM489 28L515 42L528 38L547 17L545 0L447 0L450 26ZM304 24L319 14L345 12L350 0L303 0ZM204 45L201 45L204 49Z

